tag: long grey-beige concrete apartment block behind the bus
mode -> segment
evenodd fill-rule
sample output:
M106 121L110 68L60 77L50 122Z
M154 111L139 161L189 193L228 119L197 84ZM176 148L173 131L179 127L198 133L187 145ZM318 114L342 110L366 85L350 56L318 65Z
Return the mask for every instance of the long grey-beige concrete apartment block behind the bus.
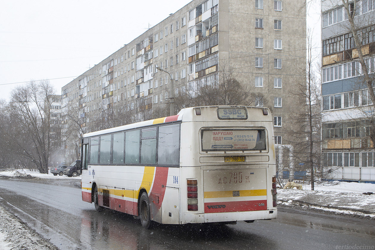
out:
M79 133L101 129L99 124L110 120L123 125L131 121L126 114L132 112L138 120L160 111L177 114L174 97L197 84L217 83L225 64L258 94L254 105L271 108L275 142L291 141L291 112L297 108L293 91L306 81L304 4L191 1L65 85L63 129L72 127L71 110L77 111ZM79 136L73 139L65 141L67 152L79 146Z

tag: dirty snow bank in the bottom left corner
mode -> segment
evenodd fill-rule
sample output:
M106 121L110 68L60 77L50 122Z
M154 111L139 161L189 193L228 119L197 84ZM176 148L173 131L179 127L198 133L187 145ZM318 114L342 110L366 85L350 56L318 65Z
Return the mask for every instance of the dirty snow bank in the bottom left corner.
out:
M0 249L58 250L0 206Z

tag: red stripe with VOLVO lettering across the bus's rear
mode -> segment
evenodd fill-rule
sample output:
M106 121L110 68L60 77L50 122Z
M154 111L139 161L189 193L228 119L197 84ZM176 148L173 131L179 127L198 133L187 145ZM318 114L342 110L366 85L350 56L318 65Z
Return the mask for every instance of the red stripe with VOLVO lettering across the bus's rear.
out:
M204 213L225 213L267 210L267 200L204 203Z

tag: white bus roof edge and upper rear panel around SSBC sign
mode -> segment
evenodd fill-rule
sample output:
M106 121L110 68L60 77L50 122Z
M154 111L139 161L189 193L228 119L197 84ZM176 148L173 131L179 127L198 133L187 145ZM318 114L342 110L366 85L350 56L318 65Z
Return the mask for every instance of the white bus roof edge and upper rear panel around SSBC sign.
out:
M267 121L272 122L272 115L268 108L264 107L252 107L252 106L201 106L201 107L192 107L192 108L184 108L178 112L177 115L169 116L169 117L162 117L148 121L141 121L139 123L133 123L128 125L123 125L119 127L113 127L110 129L99 130L95 132L86 133L83 135L83 138L92 137L92 136L99 136L108 133L119 132L127 129L135 129L138 127L146 127L151 126L154 124L161 124L161 123L169 123L174 121L239 121L239 120L219 120L217 117L217 108L246 108L248 112L248 116L245 120L241 121ZM200 109L200 114L196 112L196 109ZM265 114L264 110L267 110L267 115ZM214 112L213 112L214 111ZM250 115L251 114L251 115Z

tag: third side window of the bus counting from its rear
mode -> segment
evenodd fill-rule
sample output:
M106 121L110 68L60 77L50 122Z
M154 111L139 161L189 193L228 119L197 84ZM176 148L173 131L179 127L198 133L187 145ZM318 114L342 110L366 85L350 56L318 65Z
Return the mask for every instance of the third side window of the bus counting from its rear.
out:
M141 130L125 133L125 163L139 163L139 143Z

